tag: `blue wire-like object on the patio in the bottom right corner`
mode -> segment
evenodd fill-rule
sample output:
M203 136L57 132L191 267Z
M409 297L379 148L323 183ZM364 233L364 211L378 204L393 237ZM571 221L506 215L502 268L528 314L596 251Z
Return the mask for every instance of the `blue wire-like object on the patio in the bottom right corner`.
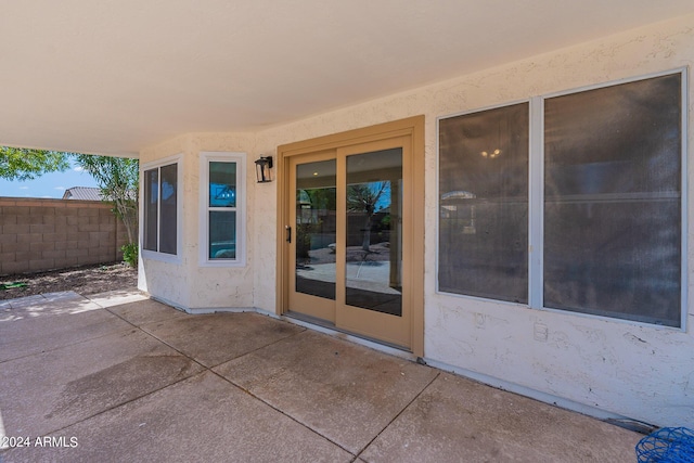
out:
M639 463L694 463L694 432L663 427L637 443Z

